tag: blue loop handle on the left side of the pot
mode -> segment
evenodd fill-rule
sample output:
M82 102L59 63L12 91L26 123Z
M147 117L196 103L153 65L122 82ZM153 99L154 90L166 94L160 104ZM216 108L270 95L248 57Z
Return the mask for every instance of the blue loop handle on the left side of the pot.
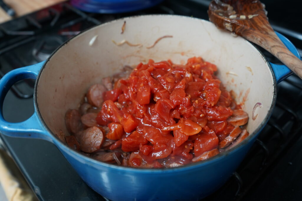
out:
M23 79L37 79L45 61L31 66L14 69L0 80L0 132L11 137L31 137L51 140L50 135L39 121L35 108L34 114L25 121L11 123L3 118L3 101L11 86Z

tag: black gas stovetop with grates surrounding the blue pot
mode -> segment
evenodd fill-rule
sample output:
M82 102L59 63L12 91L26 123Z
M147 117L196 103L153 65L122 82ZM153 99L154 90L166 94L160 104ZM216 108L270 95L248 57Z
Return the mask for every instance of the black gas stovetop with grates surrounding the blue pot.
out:
M302 20L295 1L262 1L274 29L302 49ZM45 60L68 38L95 24L140 14L178 14L203 19L208 0L167 0L126 14L87 14L63 3L0 24L0 76ZM285 4L286 3L286 4ZM300 38L300 39L299 39ZM278 62L264 52L270 61ZM33 80L16 83L3 106L7 121L23 121L34 111ZM302 193L302 81L292 75L278 84L277 104L268 124L227 183L205 200L300 200ZM28 183L41 200L104 200L89 188L51 143L0 134Z

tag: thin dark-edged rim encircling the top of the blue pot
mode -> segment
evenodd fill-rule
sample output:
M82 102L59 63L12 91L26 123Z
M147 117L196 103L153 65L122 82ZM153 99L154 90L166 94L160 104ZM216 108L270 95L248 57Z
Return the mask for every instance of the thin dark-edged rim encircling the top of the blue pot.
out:
M82 159L84 159L86 162L88 162L90 165L101 165L107 168L112 168L114 170L118 170L118 171L132 171L132 172L138 172L138 173L159 173L159 172L165 172L165 173L169 173L169 172L175 172L175 171L187 171L190 169L194 169L194 168L201 168L202 166L205 166L207 164L210 163L214 163L217 162L218 160L220 160L222 157L225 157L226 155L230 155L236 151L239 150L239 148L242 148L243 146L245 146L246 144L248 144L253 138L257 137L259 132L262 130L262 128L265 126L265 124L267 123L268 119L270 118L272 111L274 109L275 103L276 103L276 96L277 96L277 82L276 82L276 77L275 74L273 72L273 69L271 68L271 64L268 62L268 60L266 59L266 57L264 56L264 54L262 52L260 52L260 50L251 42L249 42L248 40L244 39L245 42L249 43L250 46L252 46L252 48L255 49L256 52L258 52L260 54L260 56L262 57L262 59L264 60L264 62L267 64L268 68L271 71L271 75L273 77L273 82L274 82L274 91L273 91L273 100L271 103L271 107L268 110L267 115L265 116L265 119L261 122L261 124L259 124L259 126L255 129L255 131L253 133L250 133L249 136L243 140L243 142L239 143L238 145L234 146L233 148L222 152L220 154L217 154L216 156L204 160L204 161L200 161L200 162L194 162L194 163L190 163L187 165L183 165L180 167L174 167L174 168L132 168L132 167L124 167L124 166L117 166L117 165L112 165L112 164L108 164L105 162L101 162L101 161L97 161L95 159L92 159L90 157L87 157L85 155L82 155L80 152L75 151L74 149L71 149L69 146L67 146L66 144L64 144L61 140L59 140L57 137L55 137L55 134L53 134L53 132L48 128L48 126L46 125L46 123L44 122L40 111L39 111L39 106L37 104L37 86L39 83L39 79L40 79L40 75L43 71L43 69L45 68L45 66L47 65L48 62L50 62L51 58L53 57L54 54L56 54L56 52L63 46L65 46L67 43L69 43L71 40L73 40L74 38L85 34L87 31L98 27L98 26L106 26L107 24L110 24L112 22L116 22L116 21L124 21L124 20L129 20L131 18L136 18L136 17L152 17L152 16L163 16L163 17L184 17L187 19L192 19L192 20L201 20L203 22L206 23L212 23L208 20L204 20L204 19L199 19L199 18L195 18L195 17L188 17L188 16L182 16L182 15L171 15L171 14L148 14L148 15L135 15L135 16L130 16L130 17L123 17L123 18L119 18L116 20L112 20L109 22L106 22L104 24L98 24L95 25L93 27L90 27L84 31L82 31L81 33L79 33L76 36L73 36L72 38L68 39L66 42L64 42L62 45L60 45L51 55L49 58L47 58L47 60L45 61L45 63L43 64L42 68L39 71L39 74L37 76L36 82L35 82L35 86L34 86L34 106L36 108L37 111L37 116L40 119L41 124L43 125L43 127L45 128L45 130L47 130L47 132L51 133L51 137L52 140L54 141L55 145L58 146L59 149L64 149L64 151L72 151L73 154L75 154L77 157L80 157ZM237 36L240 37L240 36ZM77 159L78 160L78 159Z

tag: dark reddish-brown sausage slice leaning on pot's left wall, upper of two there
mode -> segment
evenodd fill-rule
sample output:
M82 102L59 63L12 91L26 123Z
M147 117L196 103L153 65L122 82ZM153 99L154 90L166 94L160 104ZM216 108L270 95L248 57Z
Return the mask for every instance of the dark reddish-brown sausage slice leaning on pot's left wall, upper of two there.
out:
M76 109L69 109L65 114L65 125L69 133L77 133L82 129L81 115Z

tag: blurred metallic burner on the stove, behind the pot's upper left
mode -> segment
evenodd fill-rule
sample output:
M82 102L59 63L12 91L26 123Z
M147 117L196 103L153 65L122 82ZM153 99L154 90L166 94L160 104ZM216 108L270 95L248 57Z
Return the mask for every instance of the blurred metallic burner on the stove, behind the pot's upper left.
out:
M38 61L46 60L62 43L64 39L61 36L43 36L43 38L37 39L32 55Z

